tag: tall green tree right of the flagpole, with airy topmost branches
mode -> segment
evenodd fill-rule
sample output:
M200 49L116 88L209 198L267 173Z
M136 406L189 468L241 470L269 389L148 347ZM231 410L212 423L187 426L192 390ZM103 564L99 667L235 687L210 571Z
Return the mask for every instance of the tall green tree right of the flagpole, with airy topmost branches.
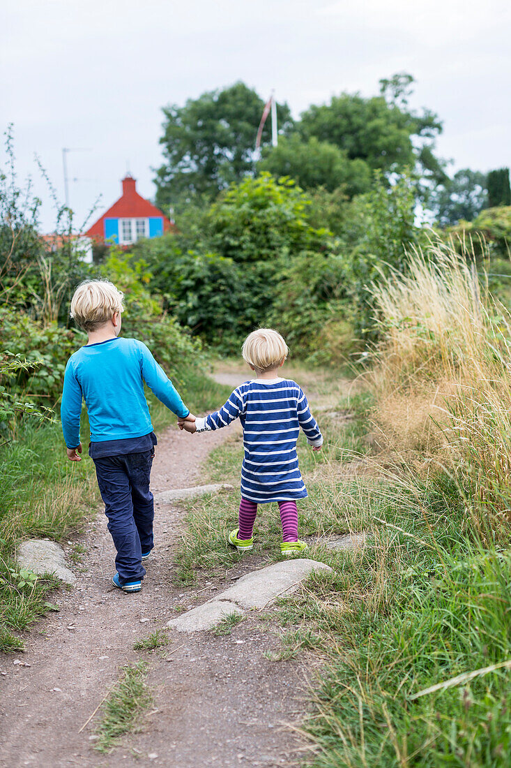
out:
M380 81L379 96L343 93L330 104L312 105L302 114L298 131L305 140L315 136L335 144L371 170L392 174L417 167L421 177L440 180L443 164L434 156L434 141L442 124L433 112L410 110L413 82L411 75L397 74Z

